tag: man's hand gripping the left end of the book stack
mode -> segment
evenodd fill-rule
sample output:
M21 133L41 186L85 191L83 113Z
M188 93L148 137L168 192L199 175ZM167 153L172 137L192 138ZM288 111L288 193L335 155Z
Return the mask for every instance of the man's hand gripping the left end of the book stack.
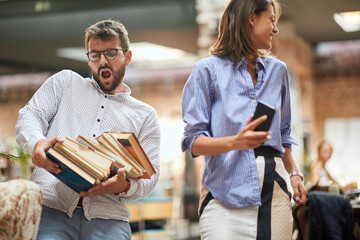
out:
M57 163L51 161L45 154L45 152L57 142L62 142L60 137L50 138L50 139L42 139L39 140L33 150L31 160L32 162L41 168L46 169L52 173L61 172L60 167Z

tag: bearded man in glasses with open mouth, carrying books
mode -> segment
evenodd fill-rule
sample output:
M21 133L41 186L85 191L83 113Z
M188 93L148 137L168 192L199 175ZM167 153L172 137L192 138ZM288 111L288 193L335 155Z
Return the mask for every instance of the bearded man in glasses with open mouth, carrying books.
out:
M155 110L130 96L124 84L131 62L125 27L105 20L86 29L92 79L71 70L54 74L19 111L16 140L32 153L32 180L42 189L38 239L130 239L126 201L148 195L159 177L160 131ZM97 137L106 131L134 132L151 160L151 179L126 179L124 169L80 195L50 172L59 165L45 151L65 137Z

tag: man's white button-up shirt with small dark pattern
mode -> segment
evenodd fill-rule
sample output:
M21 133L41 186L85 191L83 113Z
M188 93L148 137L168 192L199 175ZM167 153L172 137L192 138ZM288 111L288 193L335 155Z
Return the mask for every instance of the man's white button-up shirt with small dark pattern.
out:
M157 114L151 106L130 96L124 84L122 93L105 94L96 81L63 70L51 76L31 100L19 111L16 141L28 153L45 138L78 135L97 137L106 131L133 132L154 165L151 179L130 179L124 196L100 194L83 199L85 217L128 221L127 201L147 196L155 187L159 174L160 130ZM32 181L42 190L43 204L67 213L70 217L79 194L43 168L36 167Z

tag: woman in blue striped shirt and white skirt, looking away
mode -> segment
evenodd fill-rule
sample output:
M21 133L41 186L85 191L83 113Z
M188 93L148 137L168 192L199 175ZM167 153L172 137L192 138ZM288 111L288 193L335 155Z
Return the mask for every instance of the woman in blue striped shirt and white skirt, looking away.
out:
M276 0L232 0L211 57L197 62L183 90L183 150L205 155L202 239L291 239L291 185L307 192L291 155L286 65L265 57L278 32ZM274 106L270 131L254 131L257 102ZM289 174L290 173L290 177ZM291 183L290 183L291 182ZM271 224L270 224L271 222Z

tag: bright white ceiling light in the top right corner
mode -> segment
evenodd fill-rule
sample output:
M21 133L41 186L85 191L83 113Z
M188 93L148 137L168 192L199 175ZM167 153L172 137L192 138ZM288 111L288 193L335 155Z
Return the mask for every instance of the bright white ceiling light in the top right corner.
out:
M345 32L360 31L360 11L335 13L333 17Z

